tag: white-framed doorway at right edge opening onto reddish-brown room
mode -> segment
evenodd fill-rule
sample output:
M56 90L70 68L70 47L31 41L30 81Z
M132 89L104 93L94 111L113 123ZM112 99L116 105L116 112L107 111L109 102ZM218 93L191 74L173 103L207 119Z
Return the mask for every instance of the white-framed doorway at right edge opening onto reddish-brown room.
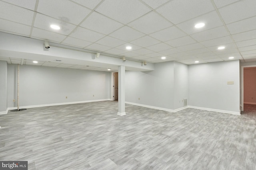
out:
M256 65L242 66L241 69L242 111L256 111Z

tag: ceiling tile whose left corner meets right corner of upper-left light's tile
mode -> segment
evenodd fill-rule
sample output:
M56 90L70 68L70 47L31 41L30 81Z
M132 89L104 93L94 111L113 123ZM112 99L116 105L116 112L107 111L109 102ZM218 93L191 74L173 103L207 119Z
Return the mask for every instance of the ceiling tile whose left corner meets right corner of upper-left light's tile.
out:
M84 22L80 24L80 26L107 35L122 27L123 24L111 20L110 18L103 16L102 14L93 12L88 18L86 18Z

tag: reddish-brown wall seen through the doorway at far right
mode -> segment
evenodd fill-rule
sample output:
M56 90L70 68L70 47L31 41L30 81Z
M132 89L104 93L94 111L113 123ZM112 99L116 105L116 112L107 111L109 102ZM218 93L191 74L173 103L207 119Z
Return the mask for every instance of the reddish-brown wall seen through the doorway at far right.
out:
M244 103L256 104L256 67L244 68Z

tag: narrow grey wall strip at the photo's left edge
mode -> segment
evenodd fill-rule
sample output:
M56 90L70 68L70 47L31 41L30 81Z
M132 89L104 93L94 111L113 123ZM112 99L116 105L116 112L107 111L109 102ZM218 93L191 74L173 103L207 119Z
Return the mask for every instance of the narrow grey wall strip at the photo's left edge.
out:
M0 113L7 109L7 62L0 61Z

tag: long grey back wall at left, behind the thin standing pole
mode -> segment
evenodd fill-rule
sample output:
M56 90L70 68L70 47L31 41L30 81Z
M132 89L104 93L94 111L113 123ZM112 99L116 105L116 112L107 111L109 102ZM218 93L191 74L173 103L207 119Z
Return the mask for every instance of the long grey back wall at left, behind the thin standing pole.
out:
M8 64L8 107L16 107L16 75ZM20 65L20 106L110 99L110 79L110 72Z

